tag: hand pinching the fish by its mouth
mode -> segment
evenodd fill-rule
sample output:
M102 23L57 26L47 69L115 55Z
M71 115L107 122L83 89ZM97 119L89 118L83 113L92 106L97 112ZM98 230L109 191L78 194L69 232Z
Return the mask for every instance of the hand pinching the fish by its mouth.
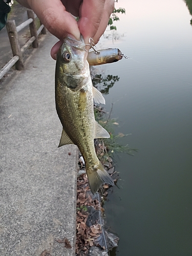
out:
M82 34L86 44L92 37L97 44L108 26L108 20L114 9L114 0L18 0L17 2L31 8L49 32L60 39L51 49L51 56L54 59L62 39L68 34L77 40ZM78 22L70 13L79 17Z

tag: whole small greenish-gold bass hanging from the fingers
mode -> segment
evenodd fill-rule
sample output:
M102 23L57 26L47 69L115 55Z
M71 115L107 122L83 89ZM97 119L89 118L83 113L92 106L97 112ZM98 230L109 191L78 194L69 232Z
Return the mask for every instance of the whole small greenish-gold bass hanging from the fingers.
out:
M55 103L62 124L58 147L75 144L84 159L90 189L95 194L99 187L114 185L112 177L99 161L94 146L96 138L110 138L109 133L95 120L94 102L105 103L102 94L93 87L88 52L83 37L63 40L56 60Z

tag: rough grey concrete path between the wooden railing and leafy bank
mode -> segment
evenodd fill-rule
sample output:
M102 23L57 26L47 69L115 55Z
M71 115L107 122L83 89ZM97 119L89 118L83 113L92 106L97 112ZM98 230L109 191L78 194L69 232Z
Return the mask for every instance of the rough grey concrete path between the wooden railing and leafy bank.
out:
M50 57L56 41L46 35L0 98L1 256L75 255L78 151L57 148L62 127Z

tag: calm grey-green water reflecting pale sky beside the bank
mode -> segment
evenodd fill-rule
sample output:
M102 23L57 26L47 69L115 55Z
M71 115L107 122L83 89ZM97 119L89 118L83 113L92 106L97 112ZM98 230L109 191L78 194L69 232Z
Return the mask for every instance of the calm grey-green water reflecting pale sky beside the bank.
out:
M192 7L192 1L188 1ZM119 0L117 31L102 48L130 59L97 68L118 76L105 95L116 133L135 156L116 155L121 180L105 203L116 256L192 255L192 26L182 0Z

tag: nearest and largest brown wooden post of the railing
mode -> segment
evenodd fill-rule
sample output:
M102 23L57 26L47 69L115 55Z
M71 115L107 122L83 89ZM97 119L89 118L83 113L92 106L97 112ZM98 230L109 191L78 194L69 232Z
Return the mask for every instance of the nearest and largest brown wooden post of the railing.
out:
M7 32L8 32L13 56L15 55L19 56L19 59L15 63L15 68L17 70L23 70L24 60L23 60L22 52L20 51L20 46L18 42L18 33L16 31L16 26L15 26L15 20L8 20L6 27L7 27Z

